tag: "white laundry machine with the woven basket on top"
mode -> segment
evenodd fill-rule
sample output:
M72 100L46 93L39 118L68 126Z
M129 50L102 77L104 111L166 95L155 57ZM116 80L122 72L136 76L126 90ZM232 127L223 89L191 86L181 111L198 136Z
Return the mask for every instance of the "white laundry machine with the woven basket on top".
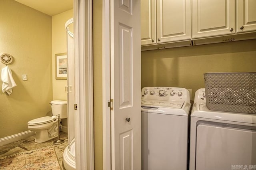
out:
M211 111L199 89L190 119L190 170L256 169L256 115Z

